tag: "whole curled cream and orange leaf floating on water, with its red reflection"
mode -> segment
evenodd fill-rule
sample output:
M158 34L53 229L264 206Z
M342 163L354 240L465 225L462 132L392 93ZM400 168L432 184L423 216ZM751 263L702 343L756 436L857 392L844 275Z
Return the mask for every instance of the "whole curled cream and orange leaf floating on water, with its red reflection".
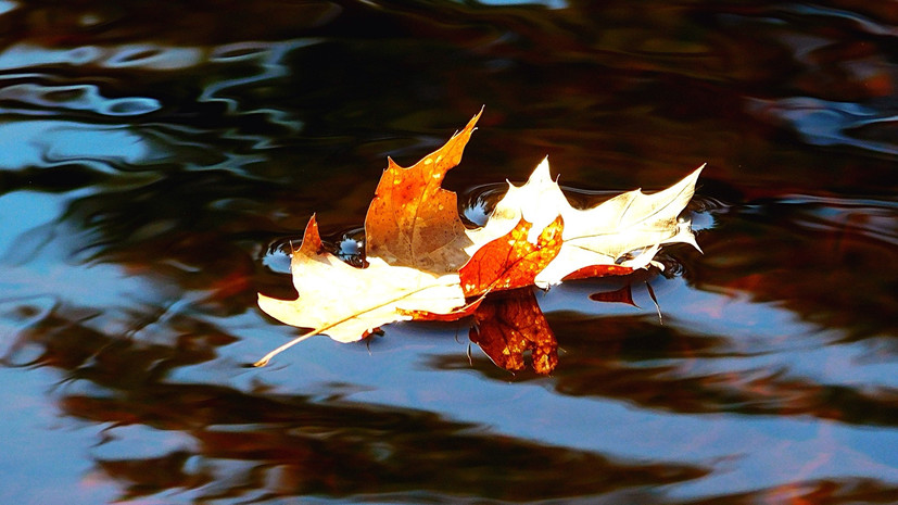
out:
M701 167L662 191L629 191L578 210L544 160L524 185L509 184L484 226L467 229L456 194L441 185L461 161L481 113L412 167L388 159L365 217L366 267L326 251L312 216L291 255L299 299L258 295L268 315L311 330L256 366L314 334L353 342L399 320L471 317L471 341L496 365L522 369L531 351L533 368L548 374L558 363L557 343L531 287L659 266L655 255L663 244L697 248L691 223L678 217Z

